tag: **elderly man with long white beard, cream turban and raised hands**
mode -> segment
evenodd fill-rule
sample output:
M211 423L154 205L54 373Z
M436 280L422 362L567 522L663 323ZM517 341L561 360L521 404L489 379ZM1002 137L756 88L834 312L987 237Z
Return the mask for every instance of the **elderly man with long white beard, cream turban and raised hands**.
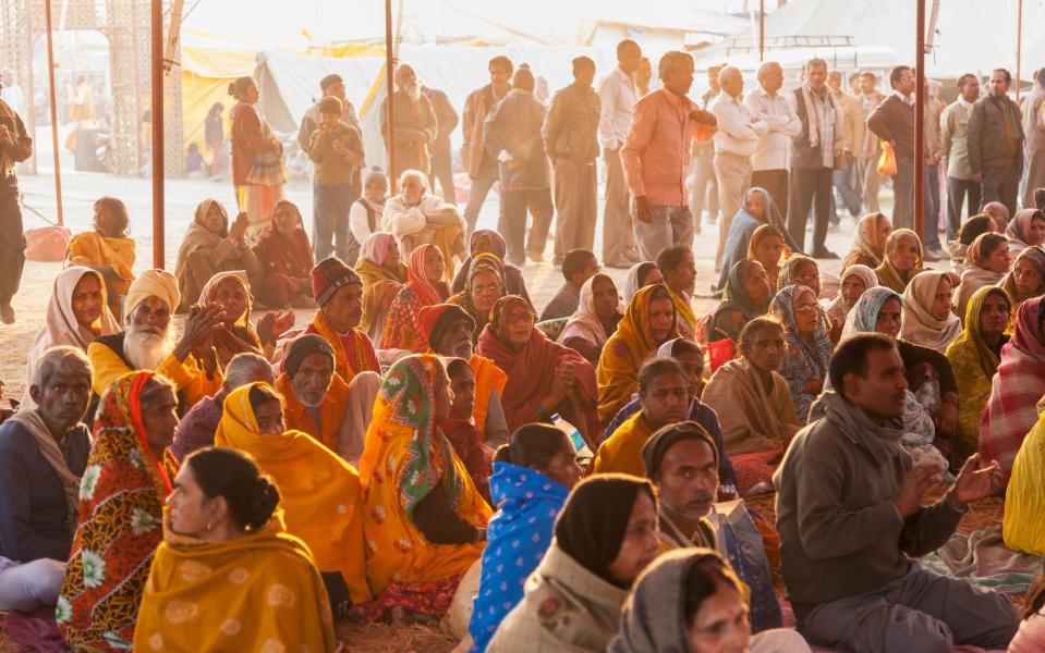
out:
M127 329L87 346L95 397L134 370L150 370L170 379L178 389L179 414L221 390L223 378L211 335L221 322L222 308L193 306L181 338L177 338L170 320L180 299L178 280L170 272L146 270L134 280L124 304Z

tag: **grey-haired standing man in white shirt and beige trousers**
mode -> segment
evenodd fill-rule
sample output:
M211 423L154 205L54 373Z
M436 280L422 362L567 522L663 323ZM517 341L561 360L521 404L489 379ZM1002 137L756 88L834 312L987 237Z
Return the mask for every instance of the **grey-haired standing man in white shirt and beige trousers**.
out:
M715 178L718 181L718 208L722 219L718 222L718 247L715 249L715 270L722 267L726 236L733 223L733 215L744 202L744 193L751 186L751 156L755 153L758 138L769 128L743 102L744 77L740 69L726 66L718 73L722 91L712 102L712 111L718 121L715 133Z

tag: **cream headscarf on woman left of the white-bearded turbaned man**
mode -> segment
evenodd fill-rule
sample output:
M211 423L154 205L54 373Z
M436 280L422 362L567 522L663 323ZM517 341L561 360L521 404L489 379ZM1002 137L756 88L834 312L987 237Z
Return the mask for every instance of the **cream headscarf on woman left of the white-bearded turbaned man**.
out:
M76 321L75 313L73 313L73 292L76 289L76 284L87 274L93 274L101 287L101 298L98 300L101 315L90 325L92 329L82 326ZM95 330L97 330L97 333L95 333ZM109 310L106 281L101 273L83 266L72 266L59 272L51 284L51 296L47 300L44 325L36 333L36 340L33 341L33 346L29 347L29 354L25 361L25 393L22 395L22 408L36 407L36 402L29 396L29 386L33 385L36 362L44 356L45 352L51 347L69 345L86 353L87 345L96 337L119 332L120 324L112 316L112 311Z

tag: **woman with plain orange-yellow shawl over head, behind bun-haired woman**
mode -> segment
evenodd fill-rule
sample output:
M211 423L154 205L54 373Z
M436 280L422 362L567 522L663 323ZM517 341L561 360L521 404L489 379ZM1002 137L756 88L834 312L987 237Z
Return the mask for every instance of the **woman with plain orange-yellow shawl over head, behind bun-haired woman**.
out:
M264 382L226 396L214 443L251 454L279 484L287 531L312 550L335 614L368 602L355 469L307 433L285 431L279 395Z

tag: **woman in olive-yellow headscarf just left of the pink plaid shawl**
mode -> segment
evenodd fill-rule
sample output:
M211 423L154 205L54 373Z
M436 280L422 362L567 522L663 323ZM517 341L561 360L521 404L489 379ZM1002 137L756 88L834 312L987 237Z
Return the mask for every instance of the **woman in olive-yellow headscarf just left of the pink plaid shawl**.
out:
M998 371L1001 347L1009 342L1005 330L1012 316L1011 305L1003 288L980 288L969 299L964 328L947 346L947 359L958 379L956 460L964 460L980 448L980 419L991 396L991 380Z

